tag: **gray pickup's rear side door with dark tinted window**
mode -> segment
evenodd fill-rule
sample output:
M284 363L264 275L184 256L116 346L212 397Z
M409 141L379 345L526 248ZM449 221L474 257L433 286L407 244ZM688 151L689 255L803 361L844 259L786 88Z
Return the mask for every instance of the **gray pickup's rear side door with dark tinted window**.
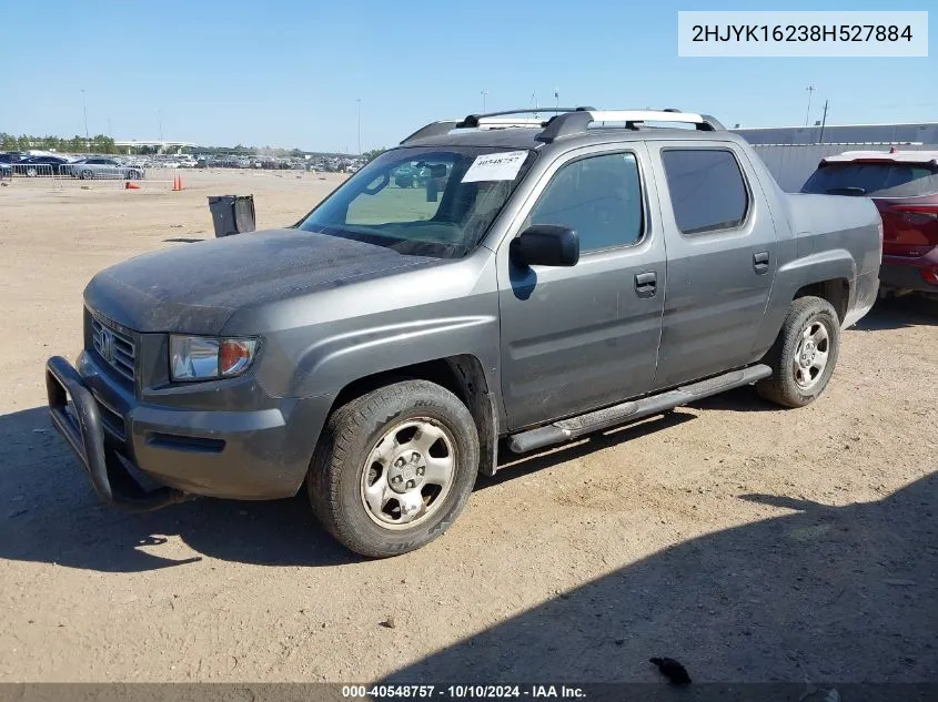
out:
M667 247L655 389L754 360L776 271L776 232L733 142L648 142Z

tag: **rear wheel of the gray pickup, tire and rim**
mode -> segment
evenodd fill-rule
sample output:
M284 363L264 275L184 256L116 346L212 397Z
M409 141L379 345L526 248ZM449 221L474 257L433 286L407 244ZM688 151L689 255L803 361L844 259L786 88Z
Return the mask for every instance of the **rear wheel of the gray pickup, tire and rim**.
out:
M783 407L809 405L827 387L839 353L840 319L834 307L820 297L799 297L766 355L771 375L756 383L756 390Z

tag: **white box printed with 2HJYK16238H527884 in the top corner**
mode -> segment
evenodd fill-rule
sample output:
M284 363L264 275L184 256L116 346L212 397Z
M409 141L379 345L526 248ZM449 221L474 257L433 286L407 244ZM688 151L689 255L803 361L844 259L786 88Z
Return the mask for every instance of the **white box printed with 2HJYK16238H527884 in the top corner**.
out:
M678 57L927 57L928 12L678 12Z

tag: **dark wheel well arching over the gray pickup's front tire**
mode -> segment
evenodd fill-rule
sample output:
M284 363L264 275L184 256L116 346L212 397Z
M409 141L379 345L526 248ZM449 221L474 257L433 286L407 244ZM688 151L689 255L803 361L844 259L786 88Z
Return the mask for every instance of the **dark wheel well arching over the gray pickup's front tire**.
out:
M382 370L346 385L332 403L330 414L345 403L380 387L401 380L428 380L445 387L472 413L478 431L478 470L493 476L497 467L497 414L482 363L471 355L450 356L425 363Z

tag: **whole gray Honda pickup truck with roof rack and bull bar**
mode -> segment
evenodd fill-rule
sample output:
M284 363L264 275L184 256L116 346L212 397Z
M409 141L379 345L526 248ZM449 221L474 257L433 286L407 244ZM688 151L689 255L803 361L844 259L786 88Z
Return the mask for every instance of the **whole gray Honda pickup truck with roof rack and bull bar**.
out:
M305 486L335 538L386 557L442 533L500 446L743 385L820 395L877 296L873 203L784 194L706 115L523 112L428 124L290 227L95 275L84 350L46 378L97 494ZM423 169L442 177L395 183Z

